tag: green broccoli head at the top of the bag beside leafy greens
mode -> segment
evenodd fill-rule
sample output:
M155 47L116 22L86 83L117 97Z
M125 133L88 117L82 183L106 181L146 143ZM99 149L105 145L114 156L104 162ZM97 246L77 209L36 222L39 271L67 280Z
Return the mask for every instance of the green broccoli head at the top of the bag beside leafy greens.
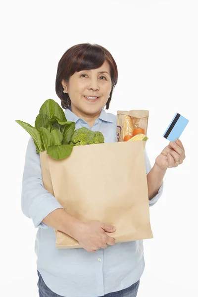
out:
M103 143L104 137L101 132L94 132L85 127L75 130L71 141L69 142L72 146L85 146Z

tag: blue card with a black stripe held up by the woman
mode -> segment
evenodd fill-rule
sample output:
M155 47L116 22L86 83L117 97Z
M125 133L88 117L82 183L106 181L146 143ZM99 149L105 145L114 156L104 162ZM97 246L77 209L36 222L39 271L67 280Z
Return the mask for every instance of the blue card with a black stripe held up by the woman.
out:
M188 122L189 120L187 120L181 114L176 113L174 118L170 122L170 125L166 129L163 137L168 139L169 141L175 141L177 138L180 137Z

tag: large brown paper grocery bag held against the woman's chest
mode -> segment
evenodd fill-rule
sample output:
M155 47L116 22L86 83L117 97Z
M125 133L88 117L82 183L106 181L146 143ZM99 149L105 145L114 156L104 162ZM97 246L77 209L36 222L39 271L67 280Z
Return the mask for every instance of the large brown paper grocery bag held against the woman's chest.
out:
M116 243L153 238L149 221L145 141L73 147L56 160L40 153L44 187L64 209L83 222L116 226ZM81 247L54 230L57 248Z

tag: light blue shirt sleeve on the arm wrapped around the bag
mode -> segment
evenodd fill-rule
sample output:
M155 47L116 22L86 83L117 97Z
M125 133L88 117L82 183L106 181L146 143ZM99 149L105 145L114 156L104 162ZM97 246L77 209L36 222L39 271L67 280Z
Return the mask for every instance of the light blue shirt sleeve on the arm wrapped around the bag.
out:
M48 228L48 225L42 223L43 219L53 210L63 208L44 188L40 155L36 153L32 138L28 142L25 156L21 208L23 214L33 220L35 228Z

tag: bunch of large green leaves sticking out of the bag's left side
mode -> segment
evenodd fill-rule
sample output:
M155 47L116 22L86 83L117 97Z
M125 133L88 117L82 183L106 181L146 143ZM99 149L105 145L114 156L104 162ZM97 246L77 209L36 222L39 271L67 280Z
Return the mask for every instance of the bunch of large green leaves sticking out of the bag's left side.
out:
M47 150L55 159L70 155L73 146L68 145L75 130L74 122L67 122L64 111L53 99L46 100L35 120L35 127L16 120L33 138L36 152Z

